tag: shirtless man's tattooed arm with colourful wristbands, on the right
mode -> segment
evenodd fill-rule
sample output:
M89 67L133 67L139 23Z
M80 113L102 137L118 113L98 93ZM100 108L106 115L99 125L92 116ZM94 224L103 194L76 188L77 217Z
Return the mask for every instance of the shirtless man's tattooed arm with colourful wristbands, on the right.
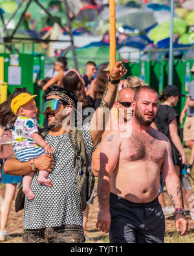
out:
M167 192L171 198L173 207L175 207L175 209L183 208L182 184L178 178L178 174L171 159L171 145L169 141L166 143L166 154L161 172L164 177ZM175 222L177 231L180 230L180 225L182 225L182 232L180 235L185 235L188 231L188 220L186 219L186 216L184 216L182 213L178 213L175 216Z

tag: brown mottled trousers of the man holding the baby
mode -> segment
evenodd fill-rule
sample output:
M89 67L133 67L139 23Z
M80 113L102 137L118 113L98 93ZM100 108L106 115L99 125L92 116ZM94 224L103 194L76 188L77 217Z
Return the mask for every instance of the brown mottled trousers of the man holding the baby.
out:
M23 243L83 243L83 228L78 225L24 229Z

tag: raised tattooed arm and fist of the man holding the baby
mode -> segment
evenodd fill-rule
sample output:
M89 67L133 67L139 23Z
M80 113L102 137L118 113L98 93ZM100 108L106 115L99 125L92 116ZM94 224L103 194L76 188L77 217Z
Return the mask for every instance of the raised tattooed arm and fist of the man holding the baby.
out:
M120 80L126 73L127 70L124 68L122 62L117 62L114 65L110 76L112 80ZM113 108L114 100L116 98L117 86L118 84L115 85L109 82L105 92L103 93L101 104L91 119L90 132L94 146L96 146L105 130L110 110Z

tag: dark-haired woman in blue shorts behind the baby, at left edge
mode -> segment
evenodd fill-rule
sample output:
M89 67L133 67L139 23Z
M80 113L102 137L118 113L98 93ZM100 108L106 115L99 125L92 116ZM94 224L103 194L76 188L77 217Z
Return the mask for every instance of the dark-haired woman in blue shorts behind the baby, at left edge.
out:
M16 88L14 93L8 97L8 99L0 105L0 130L1 135L3 135L4 130L12 130L14 127L14 122L16 121L16 115L12 112L10 104L12 99L19 95L20 93L27 92L25 87ZM5 161L3 161L4 164ZM17 183L21 183L22 176L12 176L5 174L2 169L1 173L1 184L5 184L5 194L3 198L3 203L1 205L1 216L0 216L0 241L5 241L9 239L8 233L6 231L6 223L8 221L8 216L10 213L10 206L12 200L15 198Z

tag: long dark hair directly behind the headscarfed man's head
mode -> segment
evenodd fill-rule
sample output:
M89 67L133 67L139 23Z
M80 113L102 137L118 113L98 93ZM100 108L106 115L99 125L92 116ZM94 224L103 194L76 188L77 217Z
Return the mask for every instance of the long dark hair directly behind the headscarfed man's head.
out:
M85 85L82 80L80 80L76 72L68 71L67 75L62 79L62 86L69 89L74 93L74 95L76 95L78 102L82 102L83 108L87 107L88 101L85 95Z

